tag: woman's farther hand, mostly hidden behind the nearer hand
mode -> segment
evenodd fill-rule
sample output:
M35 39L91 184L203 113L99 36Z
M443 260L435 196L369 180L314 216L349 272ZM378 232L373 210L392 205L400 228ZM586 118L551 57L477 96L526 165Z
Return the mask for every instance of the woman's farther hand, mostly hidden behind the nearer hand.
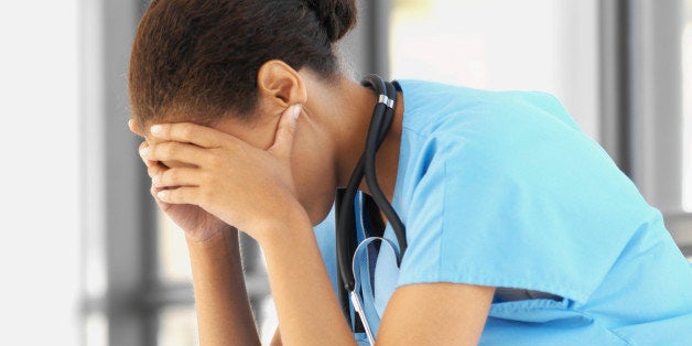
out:
M140 137L144 137L144 133L139 129L134 120L128 121L130 130ZM145 153L149 150L149 143L143 141L139 147L139 152ZM169 167L160 161L148 160L145 155L142 155L142 160L147 165L147 172L150 177L161 175ZM180 228L185 231L185 236L195 241L203 241L212 238L216 233L228 228L229 226L221 221L216 216L207 213L203 208L196 205L186 204L170 204L156 198L156 194L163 191L161 187L154 186L152 183L150 193L154 197L154 201L159 205L159 208L173 220Z

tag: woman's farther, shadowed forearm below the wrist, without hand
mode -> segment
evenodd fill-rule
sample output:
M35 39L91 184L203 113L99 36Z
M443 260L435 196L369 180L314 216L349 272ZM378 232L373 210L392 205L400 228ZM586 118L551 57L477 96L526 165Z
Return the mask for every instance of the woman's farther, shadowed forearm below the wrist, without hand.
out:
M187 239L199 344L260 345L248 302L238 233L227 229L205 241Z

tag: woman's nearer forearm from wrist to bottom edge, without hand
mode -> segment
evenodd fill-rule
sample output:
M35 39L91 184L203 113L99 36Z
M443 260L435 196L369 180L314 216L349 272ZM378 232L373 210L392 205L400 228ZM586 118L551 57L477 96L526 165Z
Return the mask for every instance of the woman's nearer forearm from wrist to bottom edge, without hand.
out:
M281 344L355 345L307 218L278 227L268 238L260 244L281 327Z

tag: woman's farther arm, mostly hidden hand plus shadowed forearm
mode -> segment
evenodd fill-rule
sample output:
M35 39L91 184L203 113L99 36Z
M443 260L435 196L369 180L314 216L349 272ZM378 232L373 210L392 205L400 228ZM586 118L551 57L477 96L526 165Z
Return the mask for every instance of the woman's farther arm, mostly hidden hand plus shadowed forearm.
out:
M128 123L132 132L143 137L134 121ZM140 153L149 148L144 141ZM142 154L152 179L180 166L150 159ZM161 210L185 230L202 345L259 345L242 277L238 231L197 206L162 202L156 198L161 191L152 184L151 194Z

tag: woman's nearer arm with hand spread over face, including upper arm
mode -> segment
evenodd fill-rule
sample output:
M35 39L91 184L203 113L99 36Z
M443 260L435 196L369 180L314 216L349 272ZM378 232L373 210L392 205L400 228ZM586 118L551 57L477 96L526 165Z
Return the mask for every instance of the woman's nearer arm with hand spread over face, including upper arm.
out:
M312 225L293 187L290 152L296 118L290 117L291 109L280 120L274 144L269 150L251 148L228 134L190 123L160 126L155 131L152 128L152 133L166 143L152 148L151 160L193 166L171 169L156 176L156 186L167 188L156 193L156 197L172 205L198 206L260 244L282 344L355 345L322 262ZM195 283L216 290L212 283L221 279L213 278L219 275L213 269L218 267L195 267L209 268L203 273L206 279L195 279ZM204 294L210 294L212 316L224 313L214 310L224 310L219 306L228 298ZM463 284L401 288L387 307L380 327L381 344L423 339L475 343L491 296L491 288ZM206 304L202 309L206 310ZM412 309L420 313L411 313Z

